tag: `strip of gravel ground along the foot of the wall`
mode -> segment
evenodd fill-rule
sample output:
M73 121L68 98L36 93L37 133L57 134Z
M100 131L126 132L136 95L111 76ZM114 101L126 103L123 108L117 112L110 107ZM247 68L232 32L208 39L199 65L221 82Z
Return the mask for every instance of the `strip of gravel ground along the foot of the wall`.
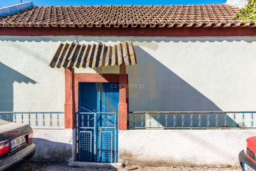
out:
M115 168L81 168L81 167L68 167L64 164L45 164L42 165L42 163L31 163L30 165L27 165L23 169L23 171L108 171L108 170L117 170ZM121 168L117 171L126 171L127 168ZM157 170L163 170L163 171L241 171L241 169L238 168L189 168L189 167L139 167L137 169L134 169L136 171L157 171Z

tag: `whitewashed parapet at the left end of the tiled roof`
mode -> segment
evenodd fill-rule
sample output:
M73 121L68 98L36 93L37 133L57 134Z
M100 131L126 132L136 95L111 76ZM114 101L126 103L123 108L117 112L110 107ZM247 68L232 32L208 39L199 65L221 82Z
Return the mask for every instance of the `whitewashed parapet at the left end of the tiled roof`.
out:
M32 1L27 3L15 4L13 6L6 6L4 8L0 8L0 16L12 15L14 13L18 13L20 11L24 11L33 7L35 6Z

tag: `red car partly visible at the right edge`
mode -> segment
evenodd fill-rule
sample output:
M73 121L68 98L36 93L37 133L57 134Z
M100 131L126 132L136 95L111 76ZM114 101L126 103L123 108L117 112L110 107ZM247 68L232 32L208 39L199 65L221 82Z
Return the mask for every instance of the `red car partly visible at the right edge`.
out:
M256 171L256 136L246 139L245 149L239 153L240 165L244 171Z

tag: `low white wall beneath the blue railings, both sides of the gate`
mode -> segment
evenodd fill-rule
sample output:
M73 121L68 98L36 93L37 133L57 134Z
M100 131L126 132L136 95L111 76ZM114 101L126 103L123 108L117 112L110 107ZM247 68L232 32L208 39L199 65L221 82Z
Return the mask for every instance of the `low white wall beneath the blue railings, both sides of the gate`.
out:
M72 160L72 129L34 130L35 162ZM238 154L255 130L121 130L118 162L147 166L239 165Z

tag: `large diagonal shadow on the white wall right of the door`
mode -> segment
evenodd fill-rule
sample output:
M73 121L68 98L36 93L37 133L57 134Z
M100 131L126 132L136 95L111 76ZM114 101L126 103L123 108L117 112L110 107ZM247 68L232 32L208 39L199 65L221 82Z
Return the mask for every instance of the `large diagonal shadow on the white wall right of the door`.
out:
M214 102L181 79L165 65L153 58L139 46L134 46L137 65L128 66L129 74L129 111L221 111ZM207 114L207 113L205 113ZM130 115L130 120L132 116ZM157 115L152 115L157 120ZM177 115L177 127L181 127L181 114ZM198 114L193 116L193 125L198 124ZM137 122L139 124L139 118ZM144 116L146 122L146 116ZM174 115L169 115L174 118ZM219 117L224 120L224 116ZM159 120L159 118L158 118ZM210 115L211 127L215 125L215 115ZM207 127L207 115L202 115L202 126ZM161 115L162 126L165 115ZM185 127L188 127L190 117L185 117ZM145 123L146 126L147 123ZM219 127L224 124L219 123ZM233 120L227 118L227 125L231 127ZM169 125L171 126L171 125Z

